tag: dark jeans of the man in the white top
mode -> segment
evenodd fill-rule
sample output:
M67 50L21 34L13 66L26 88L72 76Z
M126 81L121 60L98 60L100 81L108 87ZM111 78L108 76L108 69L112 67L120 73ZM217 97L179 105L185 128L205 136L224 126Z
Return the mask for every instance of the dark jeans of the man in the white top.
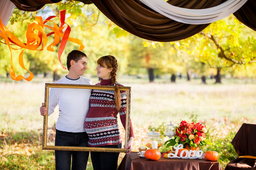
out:
M55 146L81 146L88 147L86 132L70 133L56 129ZM70 170L72 157L72 170L86 169L89 152L85 151L55 151L56 169Z

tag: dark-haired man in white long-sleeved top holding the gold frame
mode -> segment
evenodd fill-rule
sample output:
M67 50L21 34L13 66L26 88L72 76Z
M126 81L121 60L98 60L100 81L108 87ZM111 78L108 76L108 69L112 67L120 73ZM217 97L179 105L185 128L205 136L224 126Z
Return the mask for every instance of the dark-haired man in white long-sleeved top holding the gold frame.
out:
M68 75L55 83L60 84L92 84L92 80L85 78L87 56L79 50L68 54ZM48 116L59 105L60 116L56 122L55 146L88 146L88 135L84 129L84 121L89 111L90 89L51 88L49 92ZM47 108L40 107L42 116L47 114ZM86 169L89 152L84 151L55 151L56 169Z

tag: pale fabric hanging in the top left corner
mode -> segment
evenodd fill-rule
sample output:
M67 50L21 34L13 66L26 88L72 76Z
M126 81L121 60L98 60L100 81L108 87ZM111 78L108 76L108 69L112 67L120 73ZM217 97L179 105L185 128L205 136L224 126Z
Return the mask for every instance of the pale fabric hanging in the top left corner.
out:
M15 9L15 5L13 2L9 0L1 0L0 1L0 18L2 20L3 25L7 25L9 22L11 15Z

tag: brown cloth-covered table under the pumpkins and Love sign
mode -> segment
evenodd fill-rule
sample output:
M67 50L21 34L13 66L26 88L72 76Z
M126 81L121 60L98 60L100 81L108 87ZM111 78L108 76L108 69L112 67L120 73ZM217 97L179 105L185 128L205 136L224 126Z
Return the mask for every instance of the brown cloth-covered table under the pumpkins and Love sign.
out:
M217 161L211 162L207 159L160 158L159 160L149 160L140 158L138 155L138 152L131 152L125 155L118 170L222 170Z

